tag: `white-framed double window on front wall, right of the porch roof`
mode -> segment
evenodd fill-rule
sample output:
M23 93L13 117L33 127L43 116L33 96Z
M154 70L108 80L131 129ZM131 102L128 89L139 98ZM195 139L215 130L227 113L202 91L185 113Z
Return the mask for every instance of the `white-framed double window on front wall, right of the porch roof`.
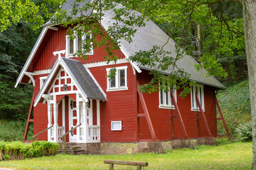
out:
M107 75L114 68L107 68ZM112 77L107 77L107 91L127 90L127 66L115 67L116 74Z

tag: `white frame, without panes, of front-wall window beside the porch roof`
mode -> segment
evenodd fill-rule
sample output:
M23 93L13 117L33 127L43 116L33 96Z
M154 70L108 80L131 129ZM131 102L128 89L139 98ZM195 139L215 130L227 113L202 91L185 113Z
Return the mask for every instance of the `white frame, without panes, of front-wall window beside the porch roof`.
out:
M110 75L110 70L114 69L112 68L107 68L107 75ZM122 67L115 67L116 69L116 75L114 77L115 79L115 86L114 87L110 87L110 77L107 77L107 91L121 91L121 90L127 90L127 66L122 66ZM119 86L120 82L119 82L119 70L124 69L124 79L125 79L125 84L124 86Z

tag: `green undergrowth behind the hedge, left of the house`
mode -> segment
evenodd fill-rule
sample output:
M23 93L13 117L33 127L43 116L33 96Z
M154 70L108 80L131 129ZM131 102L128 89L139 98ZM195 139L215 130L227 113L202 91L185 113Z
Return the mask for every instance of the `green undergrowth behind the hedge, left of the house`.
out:
M21 120L0 120L0 140L4 141L21 141L23 140L26 122ZM33 126L28 129L27 140L33 140Z

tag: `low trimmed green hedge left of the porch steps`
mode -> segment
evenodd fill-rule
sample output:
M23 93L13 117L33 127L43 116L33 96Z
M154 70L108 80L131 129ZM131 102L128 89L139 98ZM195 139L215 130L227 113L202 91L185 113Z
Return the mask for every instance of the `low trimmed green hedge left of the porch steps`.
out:
M58 143L36 141L31 143L0 141L0 160L26 159L57 154Z

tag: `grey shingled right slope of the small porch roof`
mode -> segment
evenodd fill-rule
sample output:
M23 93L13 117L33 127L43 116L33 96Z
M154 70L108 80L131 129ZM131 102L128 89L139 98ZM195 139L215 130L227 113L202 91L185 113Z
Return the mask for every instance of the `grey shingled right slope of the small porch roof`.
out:
M93 81L80 61L68 58L63 58L63 61L70 70L70 73L73 74L73 78L87 95L87 98L106 101L105 96L103 96L102 92L95 84L95 81Z

